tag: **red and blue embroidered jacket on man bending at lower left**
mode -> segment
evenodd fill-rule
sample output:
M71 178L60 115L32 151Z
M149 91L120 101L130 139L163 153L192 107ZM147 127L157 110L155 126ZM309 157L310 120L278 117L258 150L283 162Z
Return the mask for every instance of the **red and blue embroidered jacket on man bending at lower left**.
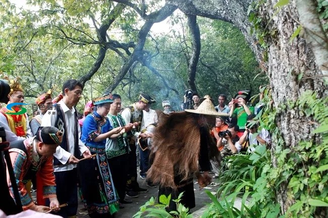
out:
M56 197L56 183L53 174L53 158L39 157L36 148L33 146L33 138L15 141L10 144L12 149L9 150L12 161L16 182L23 209L26 210L34 204L29 193L25 188L25 184L31 180L32 177L38 177L38 183L41 182L43 186L43 198ZM8 163L7 163L8 164ZM7 182L12 197L13 189L7 170ZM38 184L38 187L40 184Z

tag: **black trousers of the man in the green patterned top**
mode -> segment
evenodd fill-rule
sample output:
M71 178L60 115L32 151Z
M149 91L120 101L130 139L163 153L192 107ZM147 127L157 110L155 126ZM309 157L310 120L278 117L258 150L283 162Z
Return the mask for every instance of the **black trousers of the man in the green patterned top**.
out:
M128 154L120 155L107 160L111 168L111 173L116 191L120 199L123 200L125 197L125 187L128 180Z

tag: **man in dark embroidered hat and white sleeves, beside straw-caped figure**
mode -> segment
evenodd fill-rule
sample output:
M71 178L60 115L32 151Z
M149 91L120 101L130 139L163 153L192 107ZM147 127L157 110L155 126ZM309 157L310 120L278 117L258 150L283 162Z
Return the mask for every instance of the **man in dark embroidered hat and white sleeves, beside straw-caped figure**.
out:
M142 110L145 109L147 104L151 104L151 97L147 94L140 94L138 101L134 104L125 108L121 115L126 123L138 123L136 125L135 130L132 129L134 132L132 136L128 138L129 146L131 152L128 154L129 156L129 169L128 169L128 181L127 181L127 196L129 197L139 197L137 194L138 192L147 192L148 189L140 188L137 182L137 156L136 156L136 140L138 137L140 138L147 138L148 134L141 132L140 124L142 121Z

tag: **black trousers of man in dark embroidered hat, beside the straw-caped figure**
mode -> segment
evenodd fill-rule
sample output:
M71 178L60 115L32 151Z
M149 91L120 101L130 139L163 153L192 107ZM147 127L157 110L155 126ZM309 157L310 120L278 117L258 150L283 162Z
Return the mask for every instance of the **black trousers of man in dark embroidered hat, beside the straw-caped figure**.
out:
M137 182L137 156L136 156L136 145L130 144L131 152L128 154L128 179L126 190L127 191L137 191L139 189L139 184Z

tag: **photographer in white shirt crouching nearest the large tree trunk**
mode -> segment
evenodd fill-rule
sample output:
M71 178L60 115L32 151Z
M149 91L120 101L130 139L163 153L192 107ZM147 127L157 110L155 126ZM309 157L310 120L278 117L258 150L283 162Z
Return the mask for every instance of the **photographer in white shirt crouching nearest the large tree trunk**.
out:
M251 121L253 121L255 117L255 114L251 114L247 116L247 123L245 125L245 132L240 137L239 143L244 144L245 148L249 148L251 152L255 151L255 147L259 144L265 145L267 149L271 147L271 137L269 132L261 128L260 132L258 132L259 126L258 123L252 124ZM255 133L258 134L255 136Z

